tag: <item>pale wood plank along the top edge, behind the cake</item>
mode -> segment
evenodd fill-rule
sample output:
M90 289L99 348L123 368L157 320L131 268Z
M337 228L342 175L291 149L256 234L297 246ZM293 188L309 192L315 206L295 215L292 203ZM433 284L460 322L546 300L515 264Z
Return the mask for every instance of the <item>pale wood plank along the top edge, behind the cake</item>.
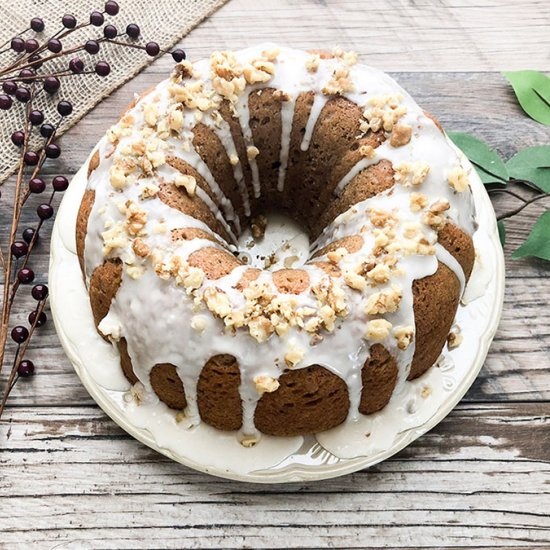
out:
M549 70L544 0L232 0L194 29L190 51L263 41L352 47L388 71Z

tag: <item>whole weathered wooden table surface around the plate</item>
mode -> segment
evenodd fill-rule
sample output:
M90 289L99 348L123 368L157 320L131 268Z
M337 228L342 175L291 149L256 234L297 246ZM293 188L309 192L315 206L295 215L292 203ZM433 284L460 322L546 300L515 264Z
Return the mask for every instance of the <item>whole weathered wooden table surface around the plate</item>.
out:
M183 45L196 59L263 40L355 49L447 129L505 157L550 142L498 72L550 70L547 0L230 0ZM169 67L159 60L82 120L58 170L74 174ZM510 260L541 210L507 224L502 321L462 402L395 457L331 481L224 481L155 453L94 404L48 322L29 355L38 372L0 424L0 548L550 548L550 264ZM42 239L41 280L47 254Z

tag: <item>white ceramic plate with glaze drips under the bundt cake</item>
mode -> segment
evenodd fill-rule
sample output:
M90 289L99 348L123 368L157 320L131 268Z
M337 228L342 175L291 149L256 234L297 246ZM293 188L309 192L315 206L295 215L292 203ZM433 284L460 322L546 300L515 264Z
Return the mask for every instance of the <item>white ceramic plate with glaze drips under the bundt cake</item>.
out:
M463 343L444 350L437 365L405 384L382 411L316 437L263 436L245 448L235 434L201 424L188 427L163 403L138 405L122 375L118 353L97 334L75 245L75 223L86 185L74 177L59 209L51 241L50 293L65 352L97 404L149 447L196 470L242 481L281 483L340 476L394 455L438 424L475 380L497 329L504 294L504 258L493 208L475 170L470 171L479 228L477 259L456 323ZM87 163L84 165L87 166Z

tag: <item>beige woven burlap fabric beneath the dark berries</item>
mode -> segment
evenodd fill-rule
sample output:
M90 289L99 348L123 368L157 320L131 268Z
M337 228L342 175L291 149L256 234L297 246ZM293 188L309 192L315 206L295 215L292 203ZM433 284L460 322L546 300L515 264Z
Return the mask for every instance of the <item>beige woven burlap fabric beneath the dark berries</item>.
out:
M116 17L105 15L106 23L114 24L119 31L123 31L128 23L137 23L141 28L141 38L138 43L145 44L147 41L154 40L162 49L166 49L178 42L227 0L117 1L120 5L120 13ZM102 11L103 5L104 0L16 0L15 2L0 0L2 8L0 44L6 41L9 43L12 37L27 29L32 17L41 17L46 23L44 32L37 35L38 41L42 43L62 29L61 18L65 13L75 15L78 22L88 22L90 12ZM34 36L34 33L28 31L22 36L29 38ZM64 49L83 44L86 37L97 38L100 36L102 36L101 28L82 29L63 40ZM111 73L106 78L90 74L70 75L61 79L61 88L56 94L56 99L70 100L74 111L71 117L62 122L60 134L75 124L101 99L153 61L143 51L109 44L102 45L101 51L95 56L84 51L74 55L78 55L85 62L87 69L92 69L97 61L107 61L111 66ZM71 57L50 61L48 64L44 64L41 72L44 73L48 67L52 68L54 64L58 68L65 69ZM0 68L7 66L14 59L16 59L15 54L11 52L1 54ZM46 94L37 95L36 106L44 110L48 122L55 123L59 118L55 111L55 104L56 101L48 100ZM11 143L10 136L14 130L22 128L23 117L24 107L17 102L14 102L14 106L9 111L0 111L0 145L2 148L0 184L17 167L19 152Z

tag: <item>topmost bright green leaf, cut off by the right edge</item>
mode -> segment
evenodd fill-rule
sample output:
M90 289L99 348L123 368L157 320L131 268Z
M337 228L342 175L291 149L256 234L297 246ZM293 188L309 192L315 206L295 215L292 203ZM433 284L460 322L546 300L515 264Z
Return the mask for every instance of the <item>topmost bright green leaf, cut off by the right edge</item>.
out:
M522 109L533 120L550 126L550 78L538 71L502 74L512 84Z

